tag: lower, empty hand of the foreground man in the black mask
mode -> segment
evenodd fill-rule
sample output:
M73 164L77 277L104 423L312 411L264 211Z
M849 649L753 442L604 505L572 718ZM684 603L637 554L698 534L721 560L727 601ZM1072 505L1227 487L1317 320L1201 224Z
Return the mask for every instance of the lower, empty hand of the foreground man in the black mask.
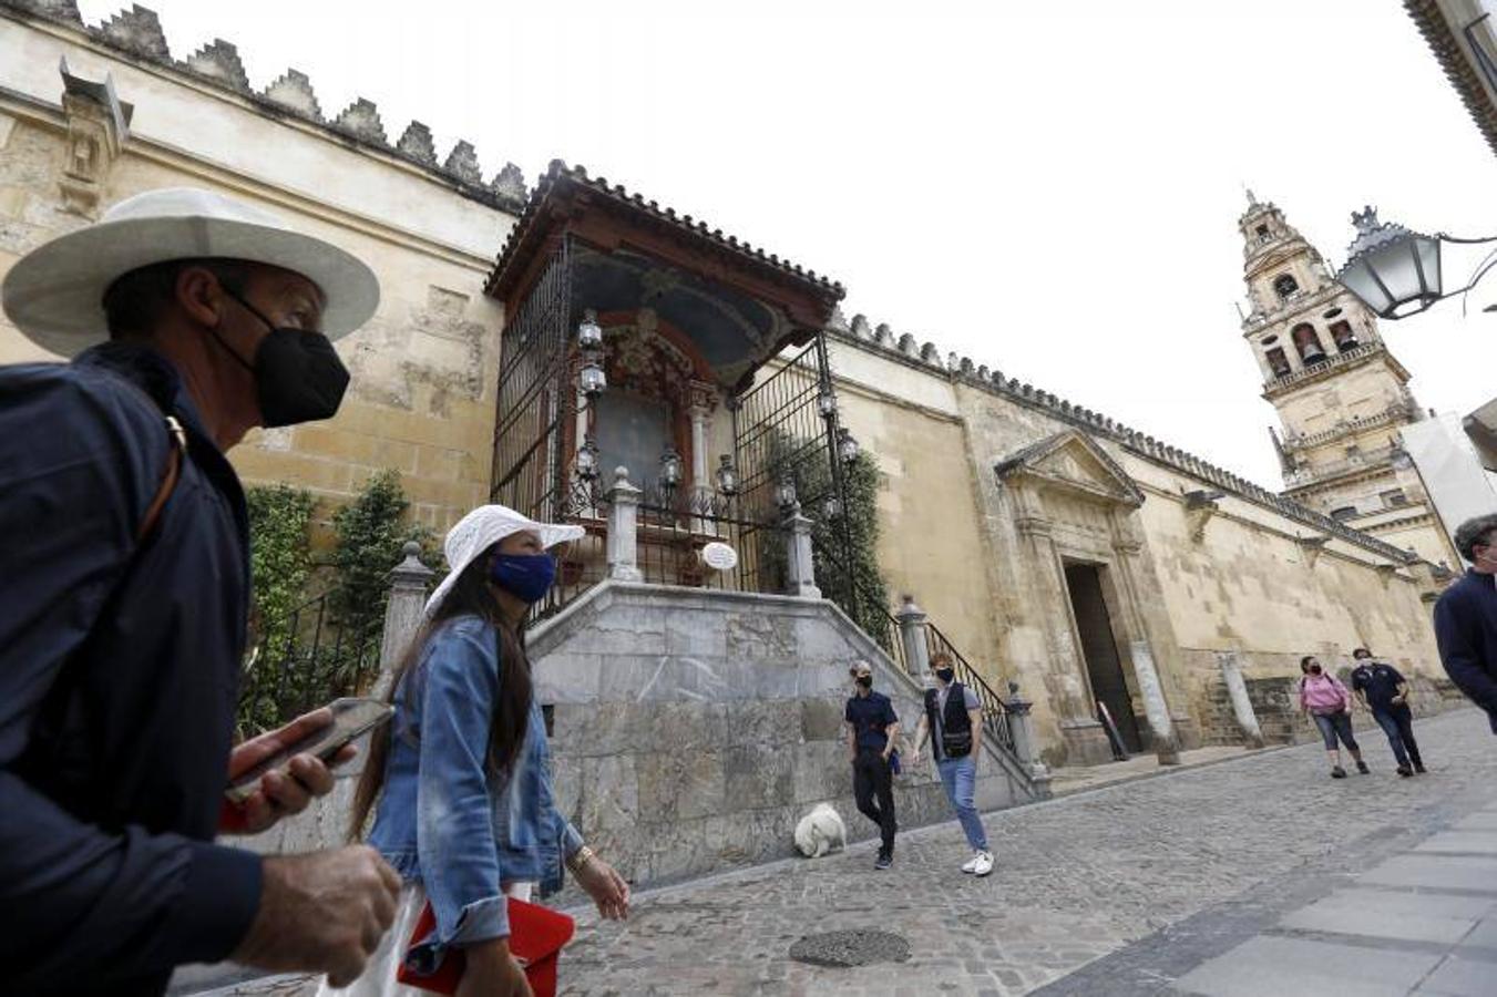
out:
M364 844L266 858L254 924L229 958L272 972L326 973L347 987L395 919L400 876Z

